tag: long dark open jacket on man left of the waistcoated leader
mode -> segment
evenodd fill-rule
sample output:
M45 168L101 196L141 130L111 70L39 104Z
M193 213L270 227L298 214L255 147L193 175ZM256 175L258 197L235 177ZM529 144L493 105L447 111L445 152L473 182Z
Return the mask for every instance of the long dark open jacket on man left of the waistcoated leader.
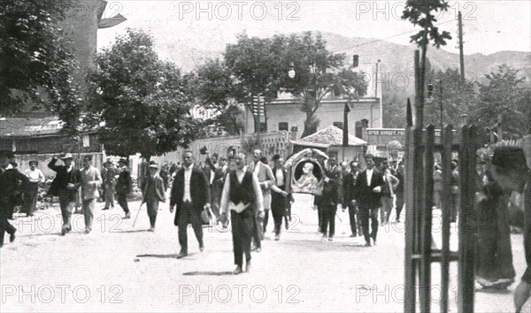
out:
M192 198L192 206L194 211L199 216L206 203L210 203L210 187L208 181L204 177L204 172L196 166L192 167L192 174L190 175L190 196ZM170 198L170 208L177 206L175 212L174 225L179 225L179 213L182 208L184 197L184 168L181 168L173 179L172 196Z

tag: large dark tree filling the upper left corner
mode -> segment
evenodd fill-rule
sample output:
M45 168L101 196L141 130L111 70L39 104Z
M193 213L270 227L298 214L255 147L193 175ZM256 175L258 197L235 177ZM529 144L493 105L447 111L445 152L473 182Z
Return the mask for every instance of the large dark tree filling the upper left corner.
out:
M66 4L66 5L65 5ZM79 126L81 98L70 40L59 26L69 1L4 0L0 11L0 115L26 103L58 113L64 129Z

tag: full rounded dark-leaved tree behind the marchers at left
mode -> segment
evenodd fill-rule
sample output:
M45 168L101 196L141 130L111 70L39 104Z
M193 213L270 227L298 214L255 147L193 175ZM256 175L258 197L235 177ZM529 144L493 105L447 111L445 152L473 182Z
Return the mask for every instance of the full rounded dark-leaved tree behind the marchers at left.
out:
M112 155L160 156L186 147L198 133L185 95L188 80L158 59L150 34L128 29L96 57L89 74L89 126Z

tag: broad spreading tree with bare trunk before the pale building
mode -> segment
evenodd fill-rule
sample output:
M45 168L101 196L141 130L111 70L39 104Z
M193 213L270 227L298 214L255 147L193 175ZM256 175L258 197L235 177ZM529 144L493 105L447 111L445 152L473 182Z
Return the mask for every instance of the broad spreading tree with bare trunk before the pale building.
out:
M283 34L272 38L238 36L235 45L228 45L225 53L227 67L235 76L236 99L263 94L266 102L287 91L304 101L306 113L303 137L317 131L316 112L328 95L353 98L365 95L367 83L363 76L344 68L345 55L327 50L320 34ZM296 76L289 79L290 65ZM239 96L238 96L239 95Z

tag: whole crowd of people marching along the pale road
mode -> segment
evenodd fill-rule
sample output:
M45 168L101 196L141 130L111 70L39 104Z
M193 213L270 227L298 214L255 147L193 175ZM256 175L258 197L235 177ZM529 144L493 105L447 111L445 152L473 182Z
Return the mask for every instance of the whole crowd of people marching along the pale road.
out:
M159 202L166 202L169 192L169 207L175 210L174 225L179 228L181 251L178 258L189 254L188 225L192 225L199 250L204 250L203 225L211 223L209 216L227 228L232 225L235 274L245 268L250 271L251 251L261 250L261 241L269 220L273 216L275 240L280 240L282 222L288 227L288 210L293 202L289 191L289 173L280 155L273 156L273 168L263 156L261 149L254 149L252 161L247 156L235 153L228 158L217 154L206 155L203 164L196 164L191 151L182 155L182 164L159 168L155 162L148 165L148 174L142 179L142 204L146 204L150 219L150 232L155 231ZM96 199L104 199L103 210L114 207L114 194L124 210L124 218L131 218L127 195L132 191L133 180L128 170L127 159L120 159L116 167L110 160L104 163L102 171L92 165L91 156L83 156L82 167L73 166L73 156L66 153L53 157L48 164L56 172L48 195L58 196L63 225L61 234L71 232L72 213L78 194L81 194L81 207L85 218L85 233L92 230ZM318 211L319 232L323 239L333 240L335 235L336 210L349 210L350 237L363 236L366 246L377 242L379 225L390 222L391 212L396 208L396 222L401 222L404 207L404 163L384 160L377 167L371 155L364 157L366 169L362 170L358 161L337 164L334 156L323 164L322 191L314 196ZM529 227L531 203L529 182L531 172L526 164L523 150L501 147L494 151L488 160L480 159L476 165L476 214L477 257L476 279L485 288L505 288L514 282L512 248L509 227L508 202L512 192L521 196L525 208L525 249L527 263L531 262L531 233ZM311 164L311 163L307 163ZM294 187L304 186L308 181L314 185L318 178L312 174L312 166L303 166L302 178ZM0 174L0 247L4 245L4 233L15 240L16 229L9 223L13 208L22 205L27 216L34 214L36 195L44 175L36 161L22 173L12 154L2 154ZM434 164L434 208L443 202L443 172L439 164ZM451 163L451 219L458 218L458 160ZM312 175L311 175L312 174ZM304 176L305 175L305 176ZM304 180L304 181L303 181ZM300 186L299 186L300 185ZM304 186L303 186L304 185ZM307 184L306 184L307 185ZM100 190L102 191L100 195ZM24 195L22 197L21 195ZM142 207L142 206L141 206ZM380 218L380 221L378 220ZM245 267L243 267L245 263ZM515 303L523 304L531 293L531 279L527 269L517 287Z

